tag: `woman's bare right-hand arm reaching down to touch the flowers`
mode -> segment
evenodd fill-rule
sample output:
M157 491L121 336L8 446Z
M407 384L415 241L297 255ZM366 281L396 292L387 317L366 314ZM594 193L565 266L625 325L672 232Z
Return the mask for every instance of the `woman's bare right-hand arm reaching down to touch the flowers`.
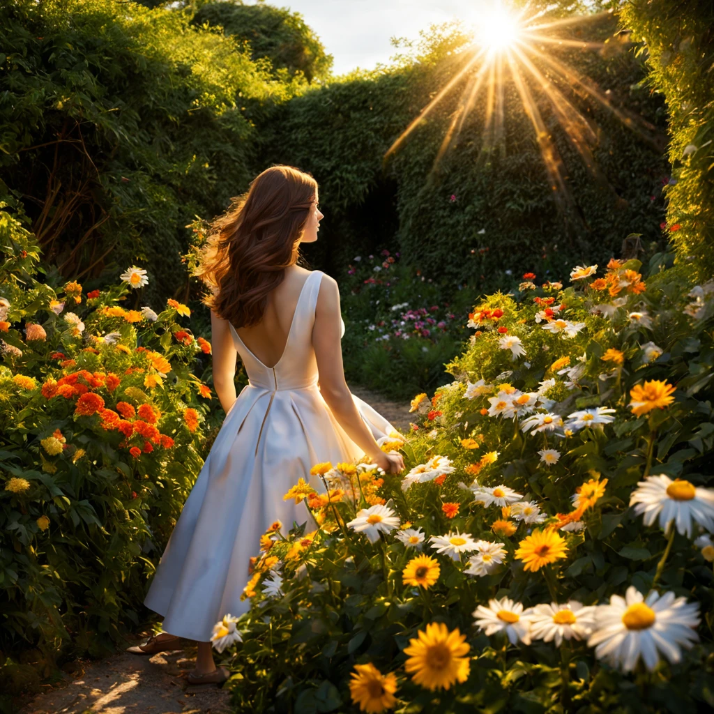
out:
M337 283L330 276L324 275L318 293L312 334L320 391L347 436L367 456L370 456L385 471L401 471L404 468L401 456L387 458L386 453L377 445L352 399L342 364L341 327L340 293Z

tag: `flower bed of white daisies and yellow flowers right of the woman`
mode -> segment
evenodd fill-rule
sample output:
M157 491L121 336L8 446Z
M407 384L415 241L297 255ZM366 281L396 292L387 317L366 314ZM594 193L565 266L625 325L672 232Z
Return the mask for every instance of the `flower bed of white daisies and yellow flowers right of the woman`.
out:
M239 711L714 705L714 285L659 262L487 298L383 444L408 472L286 494L313 526L263 535L216 625Z

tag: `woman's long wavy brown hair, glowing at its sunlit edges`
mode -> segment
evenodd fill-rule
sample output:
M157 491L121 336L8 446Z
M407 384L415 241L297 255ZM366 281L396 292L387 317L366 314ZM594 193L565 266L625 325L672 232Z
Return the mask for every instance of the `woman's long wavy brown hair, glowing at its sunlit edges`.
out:
M261 321L268 293L297 262L299 238L317 182L294 166L271 166L211 222L195 275L211 288L204 302L234 327Z

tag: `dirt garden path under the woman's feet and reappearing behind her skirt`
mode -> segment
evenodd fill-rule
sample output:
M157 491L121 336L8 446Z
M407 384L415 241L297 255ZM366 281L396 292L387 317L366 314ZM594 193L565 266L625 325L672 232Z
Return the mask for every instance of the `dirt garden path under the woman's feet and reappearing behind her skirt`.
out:
M355 396L388 419L409 428L409 405L390 401L368 389L351 386ZM143 633L142 637L151 633ZM136 640L137 642L141 640ZM19 714L228 714L230 693L215 686L191 686L186 672L193 669L196 646L183 640L183 650L153 657L117 653L104 660L79 660L64 666L59 688L25 700ZM129 646L132 643L128 643Z

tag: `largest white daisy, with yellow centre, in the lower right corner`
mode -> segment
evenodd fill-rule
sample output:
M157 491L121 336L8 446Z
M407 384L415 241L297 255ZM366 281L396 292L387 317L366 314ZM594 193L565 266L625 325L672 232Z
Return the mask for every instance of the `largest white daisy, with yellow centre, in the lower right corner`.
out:
M660 660L658 650L670 663L678 663L680 647L690 648L699 639L693 629L698 624L697 603L675 598L674 593L660 597L655 590L645 600L630 585L624 598L613 595L609 605L595 610L588 645L595 648L595 656L624 672L631 672L640 656L651 671Z

